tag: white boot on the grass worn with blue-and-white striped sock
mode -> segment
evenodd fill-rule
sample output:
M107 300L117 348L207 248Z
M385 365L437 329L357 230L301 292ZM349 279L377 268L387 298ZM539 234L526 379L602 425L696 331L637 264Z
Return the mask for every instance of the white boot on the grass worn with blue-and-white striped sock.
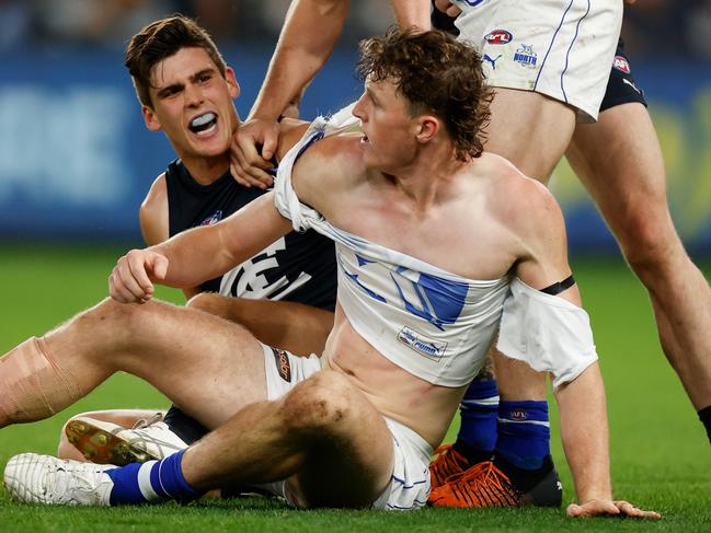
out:
M22 453L8 461L3 483L13 499L25 503L108 506L114 482L105 471L112 468Z

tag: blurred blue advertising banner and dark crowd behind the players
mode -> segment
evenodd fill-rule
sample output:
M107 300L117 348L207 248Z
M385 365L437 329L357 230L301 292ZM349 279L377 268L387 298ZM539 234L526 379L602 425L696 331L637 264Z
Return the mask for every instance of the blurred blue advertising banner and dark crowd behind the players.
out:
M172 12L197 16L237 71L245 116L288 3L0 0L0 240L139 242L140 202L174 155L144 126L123 66L126 40ZM356 43L391 23L385 0L352 2L344 39L309 88L302 117L357 97ZM638 2L626 11L622 34L663 146L677 228L695 254L711 255L711 2L690 0L684 10ZM573 251L615 253L566 164L551 188Z

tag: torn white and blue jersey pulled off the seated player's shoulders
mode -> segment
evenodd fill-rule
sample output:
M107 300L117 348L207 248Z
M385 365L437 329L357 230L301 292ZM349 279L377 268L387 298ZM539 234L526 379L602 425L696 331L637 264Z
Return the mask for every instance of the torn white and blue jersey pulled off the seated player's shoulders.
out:
M274 190L276 208L295 230L313 229L335 242L339 302L355 331L413 375L460 386L483 364L506 309L507 344L500 345L515 347L514 357L536 370L553 372L555 385L592 364L597 356L582 309L508 277L482 281L447 273L341 230L299 201L294 163L311 142L355 125L351 108L313 121L284 158Z

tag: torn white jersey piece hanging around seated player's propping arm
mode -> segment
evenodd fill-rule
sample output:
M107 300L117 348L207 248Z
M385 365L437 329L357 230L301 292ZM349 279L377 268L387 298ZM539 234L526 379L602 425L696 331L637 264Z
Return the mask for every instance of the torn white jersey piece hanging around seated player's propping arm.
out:
M553 386L573 381L597 361L585 310L518 278L504 301L496 349L536 371L551 372Z

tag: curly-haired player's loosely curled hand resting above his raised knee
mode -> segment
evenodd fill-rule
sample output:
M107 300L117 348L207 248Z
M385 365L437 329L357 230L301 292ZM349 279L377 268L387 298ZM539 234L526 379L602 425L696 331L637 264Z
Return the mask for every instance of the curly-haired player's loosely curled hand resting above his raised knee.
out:
M131 250L116 262L108 276L108 293L121 303L146 303L153 281L165 278L168 258L150 250Z

